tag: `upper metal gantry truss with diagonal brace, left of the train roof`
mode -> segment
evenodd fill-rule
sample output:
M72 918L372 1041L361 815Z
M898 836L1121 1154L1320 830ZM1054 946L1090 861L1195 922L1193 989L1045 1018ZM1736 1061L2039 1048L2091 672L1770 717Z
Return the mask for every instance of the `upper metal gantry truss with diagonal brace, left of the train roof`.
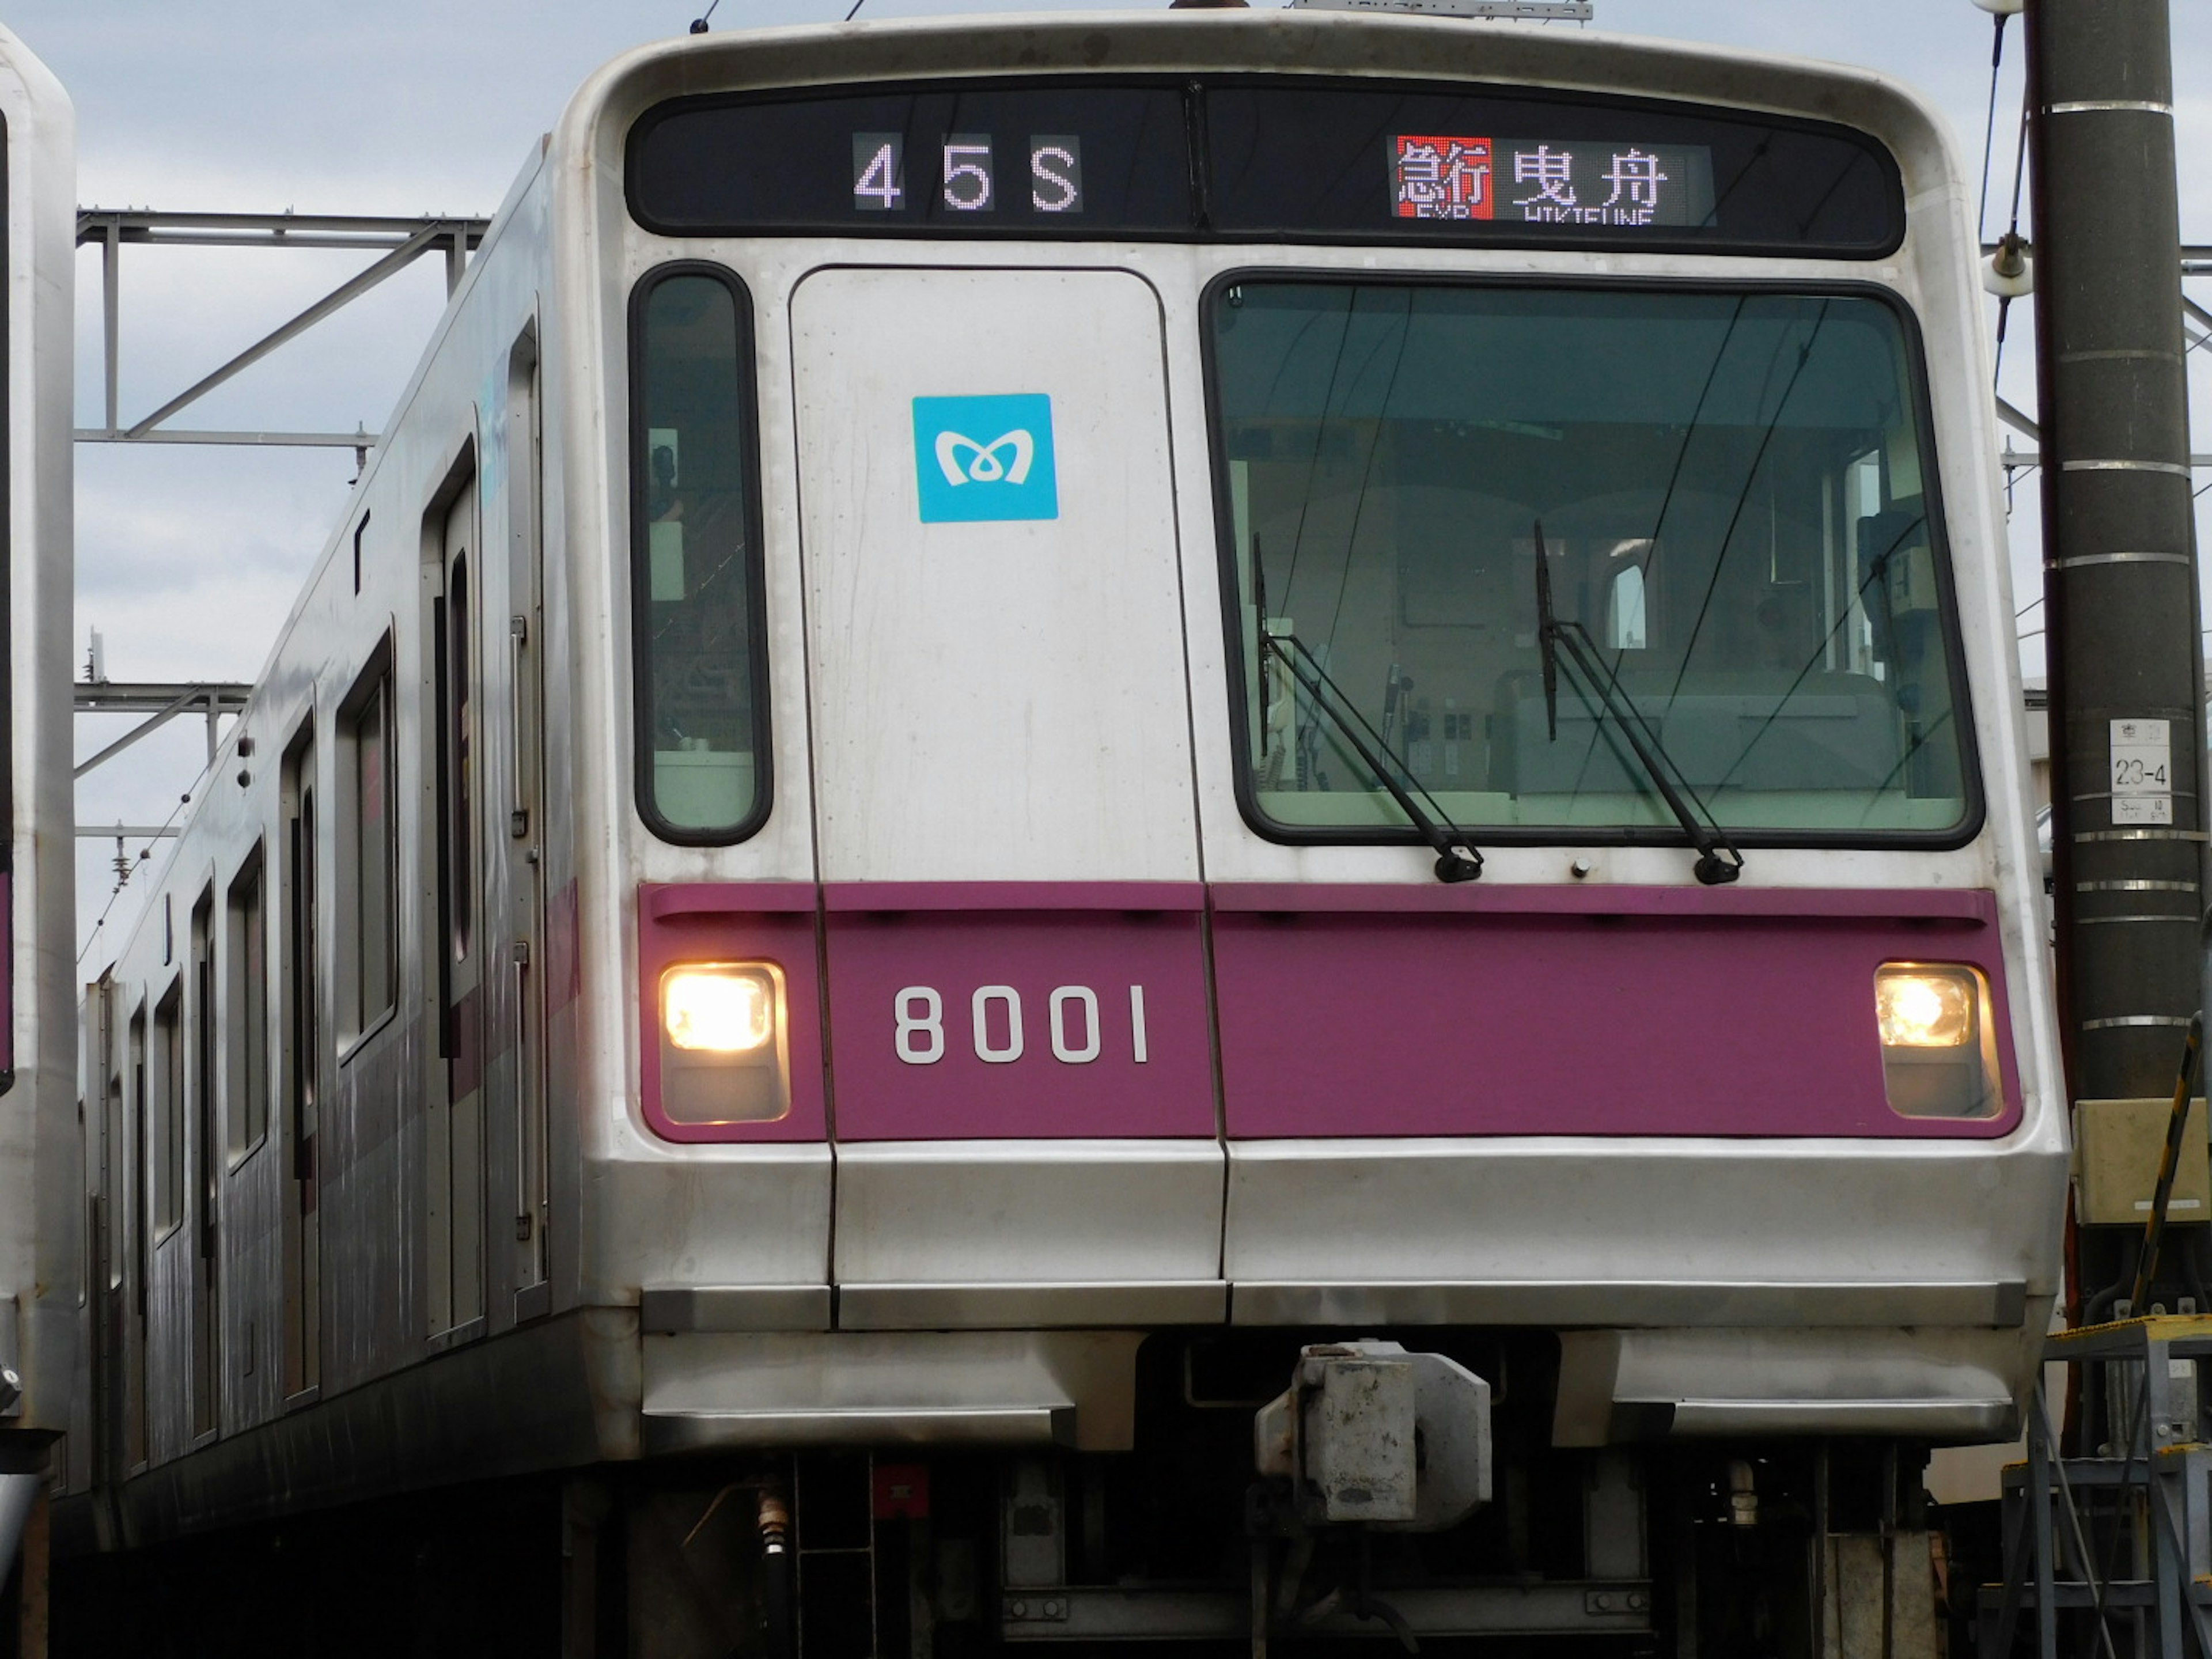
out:
M104 425L80 427L77 442L131 445L274 445L305 449L352 449L365 458L378 434L354 431L206 431L161 422L197 403L215 387L252 367L276 347L299 338L325 316L343 310L372 288L407 270L429 252L445 254L445 292L460 285L469 252L482 246L489 219L465 217L363 217L327 212L157 212L153 208L80 208L77 246L100 248ZM150 416L131 422L119 409L122 361L122 250L133 248L341 248L383 254L367 270L338 283L299 316L263 334L221 367L201 376Z

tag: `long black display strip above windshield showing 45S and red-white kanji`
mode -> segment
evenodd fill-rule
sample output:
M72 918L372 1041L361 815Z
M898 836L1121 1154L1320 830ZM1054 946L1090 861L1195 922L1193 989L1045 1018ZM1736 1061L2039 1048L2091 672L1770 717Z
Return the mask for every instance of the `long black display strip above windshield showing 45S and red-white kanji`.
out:
M967 82L690 97L628 144L666 234L1674 246L1880 257L1896 164L1838 126L1427 84Z

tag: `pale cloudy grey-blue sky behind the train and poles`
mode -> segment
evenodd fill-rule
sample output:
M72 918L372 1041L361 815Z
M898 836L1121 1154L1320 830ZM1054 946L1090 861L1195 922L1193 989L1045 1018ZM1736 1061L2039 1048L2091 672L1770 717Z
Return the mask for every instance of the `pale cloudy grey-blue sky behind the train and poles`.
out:
M849 0L719 0L717 31L830 22ZM1265 0L1263 0L1265 2ZM228 212L489 215L538 135L597 64L684 33L706 0L0 0L77 104L82 206ZM980 0L867 0L863 18ZM1018 9L1082 11L1075 2ZM2212 155L2212 4L2174 0L2179 153ZM1469 24L1482 27L1482 24ZM1573 27L1573 24L1555 24ZM1984 150L1993 20L1971 0L1597 0L1595 27L1867 64L1913 82ZM2020 111L2006 35L1991 166L2002 230ZM2212 243L2212 173L2183 177L2183 241ZM321 252L124 252L122 414L148 414L345 281ZM2212 303L2212 281L2194 283ZM376 431L445 299L422 261L177 418L181 427ZM80 254L77 418L100 422L100 270ZM2033 409L2033 319L2015 307L2000 387ZM2192 358L2212 409L2212 352ZM2197 449L2212 449L2212 420ZM354 478L352 451L77 447L77 659L104 637L113 679L252 679ZM2212 504L2212 498L2208 498ZM2033 476L2013 515L2022 666L2042 672ZM77 721L91 754L122 728ZM91 772L80 823L181 812L206 759L177 721ZM144 843L131 843L137 863ZM144 880L117 896L113 841L80 841L77 938L95 971ZM155 854L159 856L159 854ZM144 865L139 865L144 869ZM102 920L106 918L106 920Z

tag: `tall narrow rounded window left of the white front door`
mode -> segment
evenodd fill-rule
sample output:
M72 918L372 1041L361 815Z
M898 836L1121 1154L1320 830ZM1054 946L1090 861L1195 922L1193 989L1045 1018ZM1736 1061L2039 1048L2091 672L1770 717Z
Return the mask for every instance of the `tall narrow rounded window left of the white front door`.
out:
M637 807L690 845L768 816L752 310L710 265L670 265L630 303L630 611Z

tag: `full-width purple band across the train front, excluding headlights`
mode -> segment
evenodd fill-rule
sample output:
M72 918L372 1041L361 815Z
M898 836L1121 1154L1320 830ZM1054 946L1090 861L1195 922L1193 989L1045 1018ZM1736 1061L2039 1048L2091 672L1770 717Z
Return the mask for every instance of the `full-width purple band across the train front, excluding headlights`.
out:
M639 933L646 1117L668 1139L823 1137L832 1055L838 1137L854 1141L1206 1137L1217 1124L1237 1139L1980 1139L2020 1121L1989 891L684 883L639 889ZM787 973L792 1115L668 1124L659 971L750 956ZM1874 1031L1882 962L1989 978L1995 1117L1889 1110ZM1055 1020L1055 993L1088 993L1097 1029L1075 1004ZM936 1006L916 1035L925 1000ZM1022 1053L1009 1060L1015 1009Z

